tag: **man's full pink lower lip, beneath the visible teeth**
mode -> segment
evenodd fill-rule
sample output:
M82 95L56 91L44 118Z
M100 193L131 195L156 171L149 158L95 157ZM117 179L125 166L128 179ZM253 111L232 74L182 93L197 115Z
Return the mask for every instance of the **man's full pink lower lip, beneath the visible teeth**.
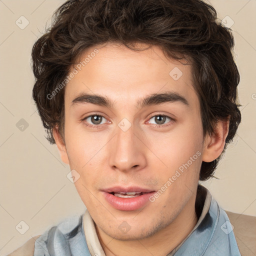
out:
M105 199L118 210L136 210L149 202L149 197L155 192L144 193L139 196L123 198L103 191Z

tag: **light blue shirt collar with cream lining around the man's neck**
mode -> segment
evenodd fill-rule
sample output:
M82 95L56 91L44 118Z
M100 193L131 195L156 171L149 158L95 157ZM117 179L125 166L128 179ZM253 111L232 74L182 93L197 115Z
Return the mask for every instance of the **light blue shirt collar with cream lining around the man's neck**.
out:
M203 187L203 189L206 189ZM46 230L34 244L34 256L105 256L86 210ZM206 189L201 215L191 232L166 256L241 256L226 212Z

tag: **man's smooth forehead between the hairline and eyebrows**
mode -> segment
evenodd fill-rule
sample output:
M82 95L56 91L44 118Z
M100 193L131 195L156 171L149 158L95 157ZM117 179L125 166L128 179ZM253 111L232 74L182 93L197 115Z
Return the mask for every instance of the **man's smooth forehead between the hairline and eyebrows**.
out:
M74 67L77 72L65 86L68 105L81 92L105 95L116 105L137 105L142 96L163 91L197 100L191 66L167 59L158 46L134 51L122 44L97 45L84 51Z

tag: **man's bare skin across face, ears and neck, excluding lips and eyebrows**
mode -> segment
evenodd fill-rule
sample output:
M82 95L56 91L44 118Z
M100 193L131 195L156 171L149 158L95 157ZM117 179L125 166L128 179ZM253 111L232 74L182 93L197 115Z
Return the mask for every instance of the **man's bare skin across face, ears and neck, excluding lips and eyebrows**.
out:
M191 66L165 58L159 47L136 52L108 43L96 48L99 52L65 86L65 141L55 127L56 145L62 161L80 175L74 184L96 224L105 254L166 255L198 220L194 203L200 165L222 152L228 122L219 121L215 134L203 138ZM169 75L174 67L182 71L178 80ZM189 106L174 101L136 107L138 99L166 91L178 92ZM72 105L80 92L107 96L113 107ZM82 120L93 114L104 117L100 124L90 117ZM154 115L174 120L166 118L168 126L161 126ZM131 124L125 132L118 126L123 118ZM138 210L117 210L102 195L101 189L114 185L158 191L197 151L200 156L154 202ZM126 233L118 228L123 221L130 226Z

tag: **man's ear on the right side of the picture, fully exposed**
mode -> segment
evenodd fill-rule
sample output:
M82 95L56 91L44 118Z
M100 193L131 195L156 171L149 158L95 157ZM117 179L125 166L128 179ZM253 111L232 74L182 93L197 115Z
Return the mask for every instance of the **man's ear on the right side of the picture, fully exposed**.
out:
M214 133L205 136L202 154L204 162L211 162L221 154L225 146L228 128L229 118L227 120L219 120L215 126Z

